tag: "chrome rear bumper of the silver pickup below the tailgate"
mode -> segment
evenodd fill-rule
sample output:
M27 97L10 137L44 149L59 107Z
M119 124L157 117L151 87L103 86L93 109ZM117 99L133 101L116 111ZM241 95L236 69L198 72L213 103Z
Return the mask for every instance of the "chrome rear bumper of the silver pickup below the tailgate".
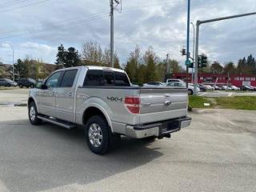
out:
M126 135L131 138L163 137L190 126L191 118L175 118L146 125L126 126Z

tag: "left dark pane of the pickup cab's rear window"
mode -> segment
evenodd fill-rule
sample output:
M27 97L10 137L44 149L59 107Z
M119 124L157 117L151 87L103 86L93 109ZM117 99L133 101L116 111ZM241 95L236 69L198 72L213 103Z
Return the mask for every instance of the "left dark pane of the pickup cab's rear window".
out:
M88 70L83 86L103 86L104 78L102 70Z

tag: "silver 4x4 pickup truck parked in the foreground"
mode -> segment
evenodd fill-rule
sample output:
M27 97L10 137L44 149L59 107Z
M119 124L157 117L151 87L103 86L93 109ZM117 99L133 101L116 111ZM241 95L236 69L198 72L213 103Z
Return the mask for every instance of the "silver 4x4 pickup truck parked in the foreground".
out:
M187 105L186 88L131 86L125 71L102 66L56 70L28 99L33 125L80 125L95 154L106 153L121 135L170 138L190 125Z

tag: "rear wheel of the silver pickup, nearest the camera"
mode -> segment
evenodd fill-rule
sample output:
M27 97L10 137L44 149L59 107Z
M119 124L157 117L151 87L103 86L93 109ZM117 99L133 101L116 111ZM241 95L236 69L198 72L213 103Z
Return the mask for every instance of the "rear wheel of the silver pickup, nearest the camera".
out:
M86 142L94 154L106 154L111 146L111 132L106 119L95 115L86 122Z

